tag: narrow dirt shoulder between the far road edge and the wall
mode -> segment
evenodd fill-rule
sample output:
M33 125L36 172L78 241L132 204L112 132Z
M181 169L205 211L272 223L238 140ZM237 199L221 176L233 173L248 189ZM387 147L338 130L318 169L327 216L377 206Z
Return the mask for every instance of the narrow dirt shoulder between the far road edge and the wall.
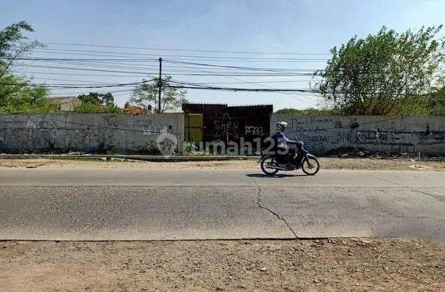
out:
M320 158L321 167L327 170L423 170L445 171L445 161L415 161L412 159L339 159ZM215 168L259 169L256 161L99 161L65 159L0 159L0 168Z

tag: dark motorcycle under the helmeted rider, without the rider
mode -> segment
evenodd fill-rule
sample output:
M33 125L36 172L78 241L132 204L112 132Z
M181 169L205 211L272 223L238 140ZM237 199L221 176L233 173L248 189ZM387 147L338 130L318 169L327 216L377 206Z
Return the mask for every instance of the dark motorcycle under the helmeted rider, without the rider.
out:
M296 145L296 152L278 147L275 154L261 154L258 161L261 163L261 170L266 175L276 175L280 170L293 171L301 168L306 175L315 175L320 170L320 163L303 147L305 143L298 141Z

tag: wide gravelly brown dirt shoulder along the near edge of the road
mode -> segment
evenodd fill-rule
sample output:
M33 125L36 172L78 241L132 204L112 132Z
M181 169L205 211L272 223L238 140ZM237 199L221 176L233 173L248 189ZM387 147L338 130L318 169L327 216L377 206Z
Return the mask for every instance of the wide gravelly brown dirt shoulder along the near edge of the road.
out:
M403 239L0 243L2 291L444 291L445 244Z

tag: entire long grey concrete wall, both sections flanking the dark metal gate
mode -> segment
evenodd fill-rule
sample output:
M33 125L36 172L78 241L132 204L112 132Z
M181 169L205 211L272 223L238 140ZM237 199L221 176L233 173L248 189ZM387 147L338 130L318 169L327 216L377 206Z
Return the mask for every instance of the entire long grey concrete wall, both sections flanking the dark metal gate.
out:
M289 123L314 154L341 147L373 152L445 155L445 117L291 116L273 114ZM0 115L0 152L153 153L159 133L184 139L184 114L57 114Z

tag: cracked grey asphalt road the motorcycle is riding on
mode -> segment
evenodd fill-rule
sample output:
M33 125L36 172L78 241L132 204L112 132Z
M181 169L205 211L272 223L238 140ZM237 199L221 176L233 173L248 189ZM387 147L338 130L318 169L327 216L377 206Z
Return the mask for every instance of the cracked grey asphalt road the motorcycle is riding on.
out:
M445 241L445 172L0 170L3 240L337 236Z

